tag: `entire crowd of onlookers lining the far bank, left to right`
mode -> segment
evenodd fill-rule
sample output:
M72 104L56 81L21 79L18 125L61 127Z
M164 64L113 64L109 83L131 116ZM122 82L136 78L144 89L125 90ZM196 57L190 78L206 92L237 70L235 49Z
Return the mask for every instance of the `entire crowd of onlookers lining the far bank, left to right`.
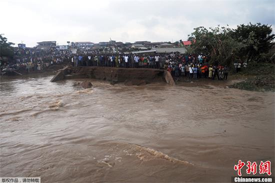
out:
M71 64L78 66L116 67L116 68L152 68L164 69L171 73L172 77L187 77L190 80L208 78L226 80L228 67L210 65L207 55L198 54L106 54L99 51L80 49L77 54L60 50L23 50L18 49L14 56L15 63L12 67L23 68L27 72L44 70L50 65ZM0 67L6 65L1 64ZM247 63L236 61L233 64L235 71L246 68Z

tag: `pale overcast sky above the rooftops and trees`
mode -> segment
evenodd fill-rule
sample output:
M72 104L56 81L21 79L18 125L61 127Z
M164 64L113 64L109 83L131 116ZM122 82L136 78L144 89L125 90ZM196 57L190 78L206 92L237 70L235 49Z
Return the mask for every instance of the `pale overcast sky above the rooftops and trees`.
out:
M275 1L1 0L0 34L40 41L178 41L193 28L260 22L275 25Z

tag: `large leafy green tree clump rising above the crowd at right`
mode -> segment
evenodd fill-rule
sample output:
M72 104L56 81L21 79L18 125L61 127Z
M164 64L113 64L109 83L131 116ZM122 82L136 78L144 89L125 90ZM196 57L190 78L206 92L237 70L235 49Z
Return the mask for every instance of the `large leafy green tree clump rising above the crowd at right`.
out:
M192 42L188 52L210 56L210 63L231 65L236 58L245 61L264 61L265 53L274 46L271 26L259 23L239 25L236 29L220 27L194 29L188 40ZM195 40L195 41L194 41Z

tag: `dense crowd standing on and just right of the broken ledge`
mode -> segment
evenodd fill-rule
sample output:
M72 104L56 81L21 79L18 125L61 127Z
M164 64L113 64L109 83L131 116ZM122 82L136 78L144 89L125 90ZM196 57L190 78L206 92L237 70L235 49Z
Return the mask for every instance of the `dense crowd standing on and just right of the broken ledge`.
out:
M71 65L117 67L117 68L153 68L164 69L172 77L187 77L191 79L209 78L227 80L227 66L212 66L208 64L209 58L199 54L117 54L117 55L75 55L71 57Z

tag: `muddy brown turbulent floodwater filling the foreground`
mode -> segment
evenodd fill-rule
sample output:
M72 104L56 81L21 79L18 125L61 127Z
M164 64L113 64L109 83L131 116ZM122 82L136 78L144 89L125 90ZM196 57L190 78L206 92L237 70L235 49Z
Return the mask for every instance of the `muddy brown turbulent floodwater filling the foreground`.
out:
M230 182L238 159L275 163L274 93L51 77L0 80L0 176Z

